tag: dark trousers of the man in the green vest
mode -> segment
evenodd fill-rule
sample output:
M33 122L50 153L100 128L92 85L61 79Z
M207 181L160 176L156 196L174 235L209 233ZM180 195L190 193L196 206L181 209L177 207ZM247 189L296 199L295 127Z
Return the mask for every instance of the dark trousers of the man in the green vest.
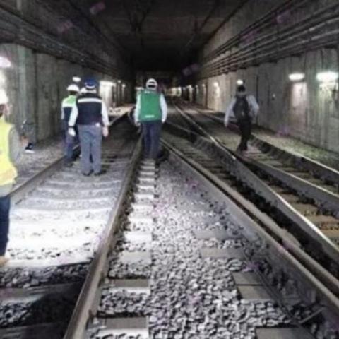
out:
M146 121L141 123L143 126L143 145L145 148L145 157L157 160L157 154L160 148L161 121Z

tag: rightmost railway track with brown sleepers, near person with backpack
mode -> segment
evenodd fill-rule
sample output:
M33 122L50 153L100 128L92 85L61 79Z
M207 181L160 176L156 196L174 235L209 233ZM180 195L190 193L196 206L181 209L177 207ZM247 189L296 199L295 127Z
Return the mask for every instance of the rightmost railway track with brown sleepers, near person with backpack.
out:
M181 113L184 114L183 111L181 111ZM196 119L196 116L199 116L199 114L194 114L194 119ZM302 229L302 233L308 234L311 239L320 244L322 251L328 256L332 256L333 263L338 261L338 244L336 243L338 239L336 234L338 232L339 221L337 218L339 206L338 194L334 194L333 192L326 190L326 188L307 182L305 179L300 179L290 172L284 172L282 167L274 168L272 166L274 165L273 160L268 160L271 164L268 165L267 163L263 164L258 160L252 160L237 155L225 146L225 144L227 145L227 136L225 136L225 128L223 133L220 131L220 124L216 127L218 133L213 133L211 126L214 127L216 124L215 122L212 121L212 123L206 123L207 126L209 126L209 130L206 131L205 125L204 128L202 128L200 120L200 123L198 123L197 120L192 119L189 115L184 115L184 117L186 118L186 121L188 120L191 123L191 128L204 134L210 139L211 143L220 147L220 153L224 156L226 155L228 162L233 162L232 156L235 156L257 174L256 177L253 177L249 172L246 172L246 169L242 169L243 174L246 174L242 175L238 173L238 179L244 183L246 183L246 181L250 182L251 188L253 188L259 196L264 198L270 206L282 211L285 217ZM205 116L203 116L202 119L204 119L204 121L207 119L208 121L211 121L211 119ZM229 144L230 141L228 141L228 145ZM222 152L221 149L224 149L225 152ZM258 150L252 150L252 152L256 155L258 154ZM275 150L275 152L277 151ZM314 164L314 172L310 173L323 171L323 173L327 174L327 177L332 178L332 182L336 180L337 172L333 169L322 167L321 164L311 162L311 160L308 162L308 159L304 157L287 155L285 152L282 153L289 164L288 166L290 166L288 169L291 171L298 170L295 169L295 167L297 167L299 161L307 164L305 166L309 167ZM262 155L266 155L266 153ZM274 161L277 162L277 160ZM334 190L335 184L331 187ZM304 246L307 246L307 244L304 243ZM308 246L312 248L314 242L310 241ZM310 249L310 251L311 250L312 249ZM316 251L316 249L314 251Z

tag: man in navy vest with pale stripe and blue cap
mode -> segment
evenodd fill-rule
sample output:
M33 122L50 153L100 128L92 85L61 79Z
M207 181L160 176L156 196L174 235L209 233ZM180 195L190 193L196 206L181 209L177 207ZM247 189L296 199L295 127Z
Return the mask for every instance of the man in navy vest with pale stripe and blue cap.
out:
M85 81L86 93L80 95L73 106L69 119L69 134L76 135L78 126L81 147L81 172L88 177L105 174L101 165L102 136L109 135L109 118L105 102L97 95L98 83L95 79ZM92 157L93 164L90 162Z

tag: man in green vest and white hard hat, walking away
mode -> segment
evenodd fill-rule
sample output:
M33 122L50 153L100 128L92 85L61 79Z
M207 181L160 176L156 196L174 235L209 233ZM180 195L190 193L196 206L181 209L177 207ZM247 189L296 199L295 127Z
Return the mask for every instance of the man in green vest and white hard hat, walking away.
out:
M167 119L165 96L157 91L157 81L149 79L145 90L141 90L136 101L134 119L143 128L145 157L157 160L160 148L162 124Z

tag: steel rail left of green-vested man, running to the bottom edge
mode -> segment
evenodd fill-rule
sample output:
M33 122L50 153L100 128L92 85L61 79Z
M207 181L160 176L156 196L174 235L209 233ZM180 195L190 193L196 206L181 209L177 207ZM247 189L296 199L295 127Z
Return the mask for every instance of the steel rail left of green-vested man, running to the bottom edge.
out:
M78 297L78 302L73 311L64 339L85 338L86 327L90 323L90 320L96 315L101 296L100 283L102 283L102 280L106 277L109 270L107 257L114 243L114 234L120 225L121 213L124 212L124 204L126 203L133 177L136 175L136 166L141 157L141 148L141 136L139 136L136 148L129 162L129 167L126 171L126 176L121 185L117 202L109 215L106 229L102 233L101 242L90 264L87 278L83 284L81 294Z

